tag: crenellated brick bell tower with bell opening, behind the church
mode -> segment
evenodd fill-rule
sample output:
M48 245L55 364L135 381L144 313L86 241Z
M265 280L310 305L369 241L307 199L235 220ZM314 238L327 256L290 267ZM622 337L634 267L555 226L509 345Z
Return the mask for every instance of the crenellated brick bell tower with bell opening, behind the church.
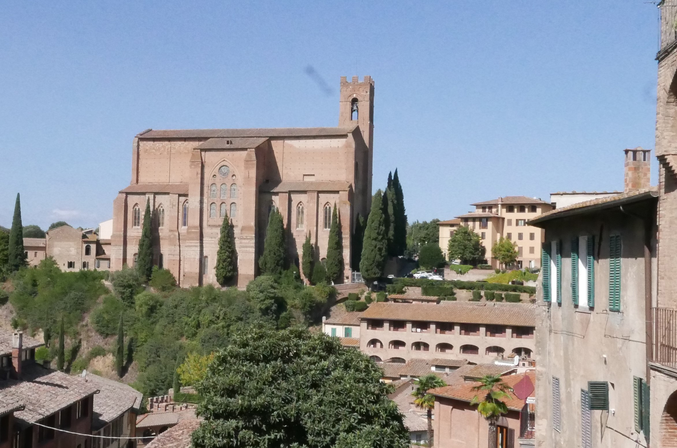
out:
M364 76L362 83L359 76L347 81L341 76L341 93L339 97L339 127L351 128L359 125L362 138L368 147L368 196L372 191L372 161L374 150L374 81L371 76Z

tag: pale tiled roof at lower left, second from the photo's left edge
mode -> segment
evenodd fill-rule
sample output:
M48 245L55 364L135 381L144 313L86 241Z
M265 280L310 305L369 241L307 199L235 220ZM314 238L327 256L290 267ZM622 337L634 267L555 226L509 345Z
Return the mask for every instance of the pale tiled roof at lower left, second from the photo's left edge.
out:
M144 395L135 388L87 373L87 382L94 384L100 392L94 395L92 430L99 430L121 416L127 409L139 409Z

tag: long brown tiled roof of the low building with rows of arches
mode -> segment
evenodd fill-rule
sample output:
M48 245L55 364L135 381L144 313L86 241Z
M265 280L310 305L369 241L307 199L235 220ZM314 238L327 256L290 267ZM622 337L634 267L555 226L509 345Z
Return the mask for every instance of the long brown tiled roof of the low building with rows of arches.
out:
M536 307L527 304L485 304L446 302L428 303L379 302L362 313L362 319L406 321L488 323L490 325L536 326Z

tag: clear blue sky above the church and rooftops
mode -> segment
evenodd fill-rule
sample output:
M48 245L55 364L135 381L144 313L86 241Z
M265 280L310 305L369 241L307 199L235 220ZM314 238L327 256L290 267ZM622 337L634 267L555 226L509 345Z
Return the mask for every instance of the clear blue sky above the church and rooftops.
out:
M0 225L16 192L24 225L110 219L144 129L336 126L355 74L375 83L374 188L399 168L410 222L622 189L622 150L653 148L657 17L644 0L3 2Z

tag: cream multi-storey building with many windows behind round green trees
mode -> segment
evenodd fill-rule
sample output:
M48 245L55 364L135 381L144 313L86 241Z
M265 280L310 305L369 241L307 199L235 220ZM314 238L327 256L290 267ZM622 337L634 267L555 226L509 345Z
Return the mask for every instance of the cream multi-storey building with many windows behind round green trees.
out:
M487 264L499 267L498 260L492 256L492 247L504 237L517 244L517 267L541 266L540 247L544 241L544 232L538 227L527 225L527 221L552 210L550 202L527 196L505 196L471 205L475 206L475 211L456 218L460 219L460 225L479 234L482 245L487 250ZM450 222L439 223L439 244L444 254L447 253L451 236L446 223ZM442 238L443 233L445 238Z

